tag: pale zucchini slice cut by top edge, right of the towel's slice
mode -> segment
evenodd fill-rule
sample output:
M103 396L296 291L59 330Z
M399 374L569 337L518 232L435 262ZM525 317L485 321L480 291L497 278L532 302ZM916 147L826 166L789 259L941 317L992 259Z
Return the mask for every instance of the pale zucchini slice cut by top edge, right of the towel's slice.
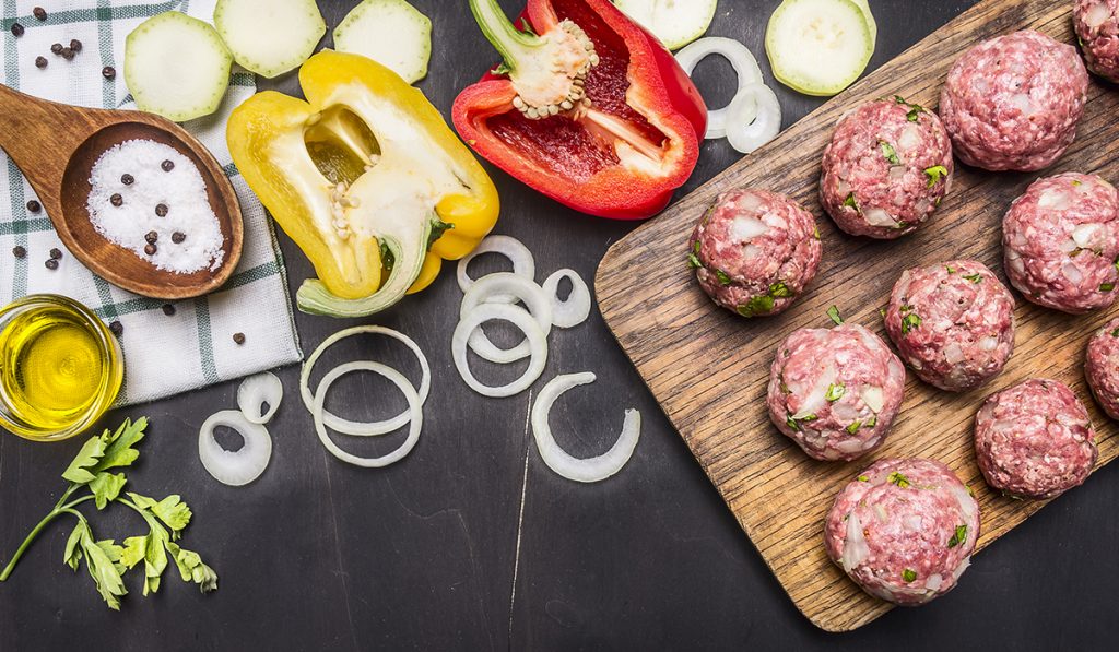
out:
M327 32L314 0L218 0L214 27L233 58L262 77L301 66Z

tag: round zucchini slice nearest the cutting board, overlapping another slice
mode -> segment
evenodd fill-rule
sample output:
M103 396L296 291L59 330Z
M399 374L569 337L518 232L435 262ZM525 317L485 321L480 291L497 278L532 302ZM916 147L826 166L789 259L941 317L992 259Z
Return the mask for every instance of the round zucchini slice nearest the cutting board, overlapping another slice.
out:
M806 95L835 95L871 62L874 37L853 0L784 0L765 29L773 76Z

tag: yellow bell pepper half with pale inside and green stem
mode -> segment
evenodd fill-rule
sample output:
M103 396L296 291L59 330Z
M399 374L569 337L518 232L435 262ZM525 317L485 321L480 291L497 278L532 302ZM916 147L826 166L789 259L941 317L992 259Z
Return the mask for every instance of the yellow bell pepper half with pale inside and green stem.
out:
M363 56L323 50L307 102L257 93L229 117L233 161L314 265L300 310L364 316L419 292L497 221L497 189L423 93Z

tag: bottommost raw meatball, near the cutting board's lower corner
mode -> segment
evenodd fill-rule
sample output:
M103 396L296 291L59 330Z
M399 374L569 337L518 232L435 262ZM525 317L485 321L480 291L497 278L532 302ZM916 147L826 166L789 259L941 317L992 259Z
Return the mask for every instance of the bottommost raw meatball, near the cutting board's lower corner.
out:
M956 586L979 538L979 504L932 460L878 460L836 497L828 556L863 590L903 606Z

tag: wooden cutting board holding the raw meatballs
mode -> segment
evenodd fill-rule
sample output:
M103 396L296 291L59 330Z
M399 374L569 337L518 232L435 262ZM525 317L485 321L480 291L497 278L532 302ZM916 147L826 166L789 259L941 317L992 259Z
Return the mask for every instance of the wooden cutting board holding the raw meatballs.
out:
M1003 375L956 395L910 374L901 415L871 459L810 460L770 424L764 401L779 342L799 328L831 325L828 306L838 305L847 321L885 338L878 309L906 267L977 258L1006 282L1002 217L1038 174L958 166L951 192L930 224L897 242L871 242L839 233L824 214L817 199L820 158L836 121L862 102L900 94L935 106L952 62L981 39L1032 28L1074 44L1071 4L988 0L974 7L617 243L599 267L595 285L606 323L797 608L824 630L853 630L891 608L847 579L822 545L824 517L835 494L872 459L922 456L951 466L976 491L982 549L1044 504L1003 498L984 483L971 426L988 394L1029 377L1063 380L1089 406L1099 465L1119 454L1116 425L1091 400L1082 371L1089 336L1119 310L1069 316L1016 296L1016 350ZM1119 89L1093 78L1079 138L1045 174L1076 170L1119 182L1117 116ZM739 187L788 193L817 216L824 239L819 275L780 316L745 320L716 308L685 263L688 235L704 210L720 192ZM978 580L975 574L962 577Z

